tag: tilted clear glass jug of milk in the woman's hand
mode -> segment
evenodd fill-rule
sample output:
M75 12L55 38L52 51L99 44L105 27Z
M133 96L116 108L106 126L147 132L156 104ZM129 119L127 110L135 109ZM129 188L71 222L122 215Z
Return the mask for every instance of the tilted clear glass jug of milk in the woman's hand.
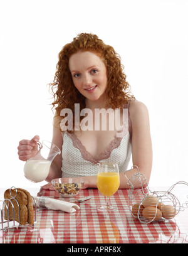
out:
M24 165L24 176L34 183L47 178L51 162L57 154L61 154L60 149L49 141L37 142L37 144L39 151Z

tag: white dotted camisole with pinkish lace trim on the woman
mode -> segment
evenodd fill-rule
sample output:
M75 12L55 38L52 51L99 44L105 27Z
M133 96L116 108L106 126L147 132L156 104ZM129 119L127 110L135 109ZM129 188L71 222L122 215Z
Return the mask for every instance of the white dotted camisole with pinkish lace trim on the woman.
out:
M119 171L126 171L132 155L132 127L128 113L128 132L115 137L99 156L93 157L74 133L62 132L62 177L97 175L99 162L114 162Z

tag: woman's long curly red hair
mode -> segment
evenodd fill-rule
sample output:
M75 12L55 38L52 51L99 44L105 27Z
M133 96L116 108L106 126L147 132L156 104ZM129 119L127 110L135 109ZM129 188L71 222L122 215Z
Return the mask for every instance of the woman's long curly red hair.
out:
M126 81L127 77L123 73L124 67L120 56L113 47L105 45L97 35L81 33L71 43L66 44L58 55L55 78L53 83L50 83L54 97L52 105L55 107L56 117L60 117L61 110L65 108L71 109L74 117L75 103L80 104L80 111L85 108L85 97L76 89L68 66L70 56L78 51L91 51L105 63L108 81L105 93L107 104L110 104L112 109L122 109L128 104L128 100L135 100L130 92L130 85Z

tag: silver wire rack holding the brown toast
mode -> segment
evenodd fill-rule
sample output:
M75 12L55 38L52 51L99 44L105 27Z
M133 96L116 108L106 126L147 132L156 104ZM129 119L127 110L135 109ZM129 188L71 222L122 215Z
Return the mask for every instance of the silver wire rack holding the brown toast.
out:
M13 196L11 193L11 190L15 189L16 193ZM16 200L16 195L17 195L17 189L12 186L10 189L10 194L11 194L11 198L10 199L5 199L5 200L0 200L0 210L1 210L1 222L0 222L0 230L8 230L9 228L18 228L18 227L23 227L23 225L21 225L20 222L20 211L19 211L19 203ZM33 198L33 196L31 196ZM18 205L18 220L19 222L17 222L14 218L15 218L15 211L14 211L14 205L13 205L13 200L16 201L16 205ZM36 223L36 200L34 200L34 223ZM11 205L11 207L13 208L13 220L9 220L9 206ZM7 211L7 216L8 216L8 220L4 220L4 211ZM15 221L17 223L15 223ZM29 225L28 223L26 225ZM25 227L25 226L24 226Z

